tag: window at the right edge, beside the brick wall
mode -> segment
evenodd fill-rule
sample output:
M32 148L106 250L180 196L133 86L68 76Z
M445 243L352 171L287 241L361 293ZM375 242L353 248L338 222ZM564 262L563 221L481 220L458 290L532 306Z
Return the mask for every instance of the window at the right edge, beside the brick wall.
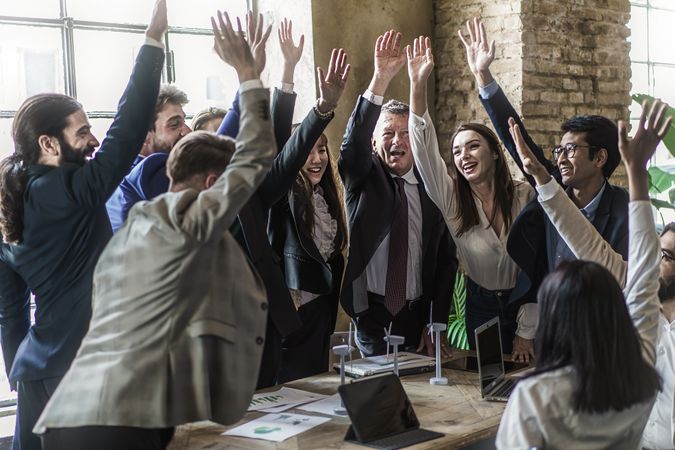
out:
M648 94L675 106L675 0L631 0L631 94ZM632 102L633 129L640 117L640 105ZM661 144L652 161L675 174L675 157ZM669 201L666 193L660 199ZM664 211L665 220L675 212Z

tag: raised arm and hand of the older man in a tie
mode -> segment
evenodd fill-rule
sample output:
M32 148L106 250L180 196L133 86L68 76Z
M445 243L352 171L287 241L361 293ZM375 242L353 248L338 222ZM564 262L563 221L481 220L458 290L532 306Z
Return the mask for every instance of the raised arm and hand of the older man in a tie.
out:
M382 100L389 83L405 64L401 33L389 30L378 36L373 64L375 69L368 90L357 100L340 146L338 169L348 191L358 188L372 167L372 137Z

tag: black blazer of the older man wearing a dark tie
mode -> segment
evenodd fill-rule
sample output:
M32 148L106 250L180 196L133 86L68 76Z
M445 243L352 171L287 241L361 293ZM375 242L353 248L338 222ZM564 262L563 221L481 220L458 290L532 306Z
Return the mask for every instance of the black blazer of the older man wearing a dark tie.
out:
M352 317L368 308L365 269L389 233L394 211L401 201L394 179L372 149L371 138L380 110L381 107L359 97L338 160L350 237L340 302ZM455 246L443 214L427 195L416 170L415 176L422 204L423 298L428 305L434 303L434 321L446 323L457 270Z

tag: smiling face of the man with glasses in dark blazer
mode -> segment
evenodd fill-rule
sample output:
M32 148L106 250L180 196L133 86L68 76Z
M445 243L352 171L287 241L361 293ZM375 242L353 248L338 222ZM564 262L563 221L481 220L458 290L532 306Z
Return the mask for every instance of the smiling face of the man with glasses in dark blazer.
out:
M571 131L565 133L560 140L561 146L567 144L576 144L577 148L572 158L568 158L563 151L556 161L564 185L579 189L596 179L604 178L602 167L607 161L605 149L596 150L593 158L589 158L591 149L586 140L586 133L573 133Z

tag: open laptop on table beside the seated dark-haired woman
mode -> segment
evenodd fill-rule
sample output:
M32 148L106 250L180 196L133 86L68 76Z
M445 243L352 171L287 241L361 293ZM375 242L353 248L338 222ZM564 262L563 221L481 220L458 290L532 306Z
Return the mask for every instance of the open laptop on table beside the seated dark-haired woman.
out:
M489 401L506 402L515 380L506 378L504 371L499 317L485 322L476 328L475 333L481 396Z

